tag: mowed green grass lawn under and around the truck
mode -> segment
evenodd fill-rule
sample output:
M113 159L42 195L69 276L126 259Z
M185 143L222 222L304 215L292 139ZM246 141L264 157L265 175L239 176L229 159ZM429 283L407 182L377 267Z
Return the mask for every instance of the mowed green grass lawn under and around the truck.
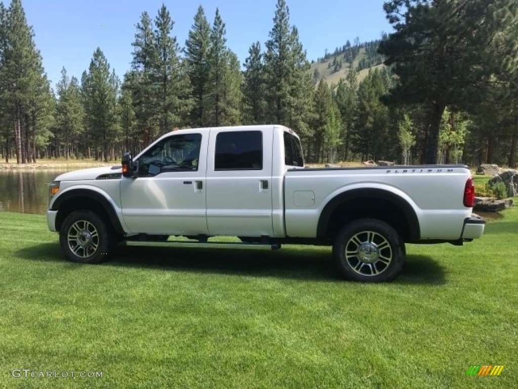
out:
M377 285L338 280L327 247L121 247L92 266L43 216L0 213L0 231L0 387L518 387L517 207L463 247L409 245ZM484 364L505 367L466 376Z

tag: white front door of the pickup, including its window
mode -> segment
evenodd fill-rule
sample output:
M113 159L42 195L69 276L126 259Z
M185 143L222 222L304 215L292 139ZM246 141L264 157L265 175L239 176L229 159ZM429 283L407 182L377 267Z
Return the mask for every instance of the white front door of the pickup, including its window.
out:
M174 134L139 156L136 178L122 178L122 216L135 233L207 234L207 134Z

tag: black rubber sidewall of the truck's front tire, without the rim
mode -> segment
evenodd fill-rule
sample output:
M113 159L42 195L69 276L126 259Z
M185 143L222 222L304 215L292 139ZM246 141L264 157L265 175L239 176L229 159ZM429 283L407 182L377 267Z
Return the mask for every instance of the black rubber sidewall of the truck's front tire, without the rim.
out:
M85 220L91 223L97 230L99 237L99 244L96 251L87 258L77 256L71 251L68 244L68 231L70 227L79 220ZM96 214L90 211L74 211L65 218L60 228L60 246L65 258L69 261L78 263L99 263L106 260L108 256L110 233L104 221Z

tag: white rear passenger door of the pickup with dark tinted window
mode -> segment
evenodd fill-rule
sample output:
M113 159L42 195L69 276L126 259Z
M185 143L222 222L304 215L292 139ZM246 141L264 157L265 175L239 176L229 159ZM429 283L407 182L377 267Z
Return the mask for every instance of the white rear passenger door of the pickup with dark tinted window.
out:
M207 163L210 235L273 235L273 128L212 130Z

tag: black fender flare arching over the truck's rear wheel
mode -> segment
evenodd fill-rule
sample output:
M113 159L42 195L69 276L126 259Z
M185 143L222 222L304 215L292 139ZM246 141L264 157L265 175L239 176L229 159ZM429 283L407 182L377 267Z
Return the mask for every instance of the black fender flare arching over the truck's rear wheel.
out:
M386 200L394 204L402 211L409 227L409 241L419 241L421 238L421 229L419 227L419 219L413 207L405 200L384 189L377 188L359 188L342 192L330 200L322 210L319 217L318 226L316 228L316 236L318 238L326 238L327 226L335 210L343 203L359 200L359 199L380 199Z

